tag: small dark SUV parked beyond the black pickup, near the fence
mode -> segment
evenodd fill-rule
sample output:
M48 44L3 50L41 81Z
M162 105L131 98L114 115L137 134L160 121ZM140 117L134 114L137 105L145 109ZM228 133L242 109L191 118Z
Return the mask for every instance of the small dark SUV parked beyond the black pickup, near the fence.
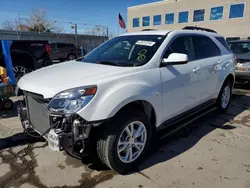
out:
M74 44L66 42L51 42L52 60L74 60L79 56L79 50Z

